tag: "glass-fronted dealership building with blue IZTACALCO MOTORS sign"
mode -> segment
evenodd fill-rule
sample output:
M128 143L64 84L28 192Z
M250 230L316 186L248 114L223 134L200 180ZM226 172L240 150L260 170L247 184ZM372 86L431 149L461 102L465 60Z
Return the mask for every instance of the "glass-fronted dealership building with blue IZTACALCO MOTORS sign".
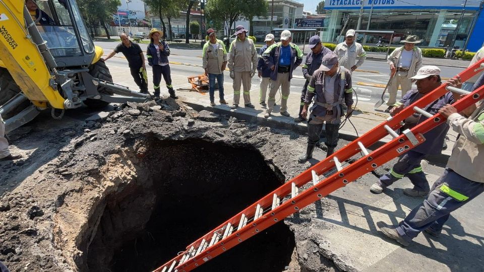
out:
M465 4L465 5L464 5ZM477 51L484 42L483 1L465 0L325 0L329 22L322 39L337 42L347 29L393 30L392 44L417 35L420 46L454 46ZM361 19L360 18L361 14ZM462 16L462 20L460 19ZM367 43L382 36L369 35ZM388 42L389 37L383 37Z

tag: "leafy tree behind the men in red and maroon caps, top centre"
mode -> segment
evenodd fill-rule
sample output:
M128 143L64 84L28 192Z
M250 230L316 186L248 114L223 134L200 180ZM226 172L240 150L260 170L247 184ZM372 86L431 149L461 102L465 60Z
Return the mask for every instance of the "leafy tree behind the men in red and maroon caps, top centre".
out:
M233 23L238 20L252 21L254 16L267 15L266 0L210 0L205 5L205 13L214 24L223 25L226 33L231 33ZM228 36L227 35L227 40Z

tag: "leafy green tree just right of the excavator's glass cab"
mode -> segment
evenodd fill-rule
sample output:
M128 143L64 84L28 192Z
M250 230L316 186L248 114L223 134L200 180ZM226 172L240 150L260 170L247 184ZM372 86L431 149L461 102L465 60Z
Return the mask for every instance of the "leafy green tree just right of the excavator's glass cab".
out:
M119 0L78 0L77 4L84 20L91 27L100 25L110 39L106 24L112 21L112 15L117 13L117 7L121 2Z

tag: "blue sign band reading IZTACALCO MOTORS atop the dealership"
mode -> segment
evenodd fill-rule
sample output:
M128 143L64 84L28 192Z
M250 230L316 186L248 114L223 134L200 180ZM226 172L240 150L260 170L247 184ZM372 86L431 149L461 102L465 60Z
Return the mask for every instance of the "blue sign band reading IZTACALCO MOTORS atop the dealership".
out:
M325 0L324 9L450 9L461 10L464 1L456 0ZM468 1L465 9L476 10L480 1Z

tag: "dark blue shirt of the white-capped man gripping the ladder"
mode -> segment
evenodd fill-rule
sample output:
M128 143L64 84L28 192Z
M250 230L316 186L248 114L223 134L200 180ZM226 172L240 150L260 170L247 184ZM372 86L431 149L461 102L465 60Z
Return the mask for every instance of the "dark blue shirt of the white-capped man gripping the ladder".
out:
M400 103L405 105L405 107L408 107L409 105L413 104L413 102L417 101L418 99L422 98L425 95L427 94L420 94L418 90L412 89L402 97L402 100L400 100ZM423 110L434 115L437 112L439 112L439 109L445 106L446 104L453 104L453 103L454 103L454 96L452 95L451 92L448 92L445 95L439 97L439 99L427 105L425 108L423 108ZM413 118L416 120L415 125L427 120L427 117L420 115L419 113L414 113ZM405 120L407 121L408 118ZM426 141L416 146L412 150L418 153L428 154L428 155L441 154L442 146L444 145L445 135L447 134L447 131L449 131L449 125L445 122L436 126L435 128L428 131L427 133L424 133L423 137L425 137Z

